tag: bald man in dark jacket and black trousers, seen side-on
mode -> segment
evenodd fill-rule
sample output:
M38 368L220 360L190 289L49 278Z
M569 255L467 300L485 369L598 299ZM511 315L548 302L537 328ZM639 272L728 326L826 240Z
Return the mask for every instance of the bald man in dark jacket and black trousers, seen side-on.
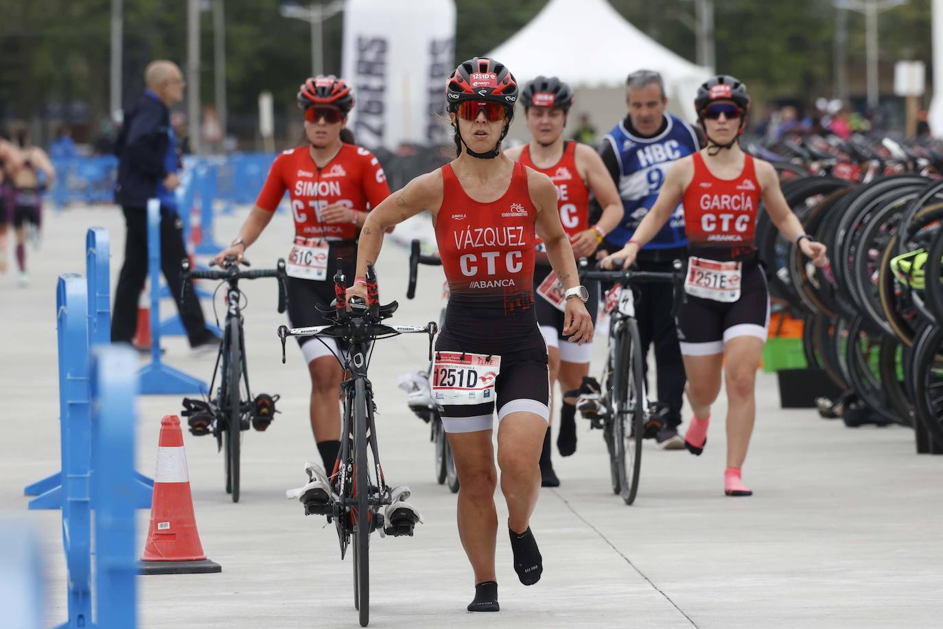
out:
M152 61L144 71L147 91L124 110L124 123L115 142L118 155L118 185L115 201L124 211L127 238L124 266L115 289L111 318L112 342L131 342L138 325L138 298L147 277L147 200L160 200L160 267L170 287L187 329L190 346L211 350L219 340L207 330L199 305L183 307L180 302L182 278L180 262L187 257L183 223L177 214L174 189L177 176L174 129L170 106L183 100L186 84L172 61Z

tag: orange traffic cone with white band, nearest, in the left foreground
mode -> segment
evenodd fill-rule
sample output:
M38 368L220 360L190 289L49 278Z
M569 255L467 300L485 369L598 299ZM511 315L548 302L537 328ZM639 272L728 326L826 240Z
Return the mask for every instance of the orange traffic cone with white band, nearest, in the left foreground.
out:
M203 554L193 516L180 420L176 415L166 415L160 421L151 525L138 571L141 574L190 574L222 570L218 563L209 561Z

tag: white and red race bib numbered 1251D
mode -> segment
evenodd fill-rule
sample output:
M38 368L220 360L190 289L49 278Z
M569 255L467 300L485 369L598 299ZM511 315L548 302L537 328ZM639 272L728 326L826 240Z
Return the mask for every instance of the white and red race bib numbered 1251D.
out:
M495 399L501 356L436 352L432 399L438 406L485 404Z

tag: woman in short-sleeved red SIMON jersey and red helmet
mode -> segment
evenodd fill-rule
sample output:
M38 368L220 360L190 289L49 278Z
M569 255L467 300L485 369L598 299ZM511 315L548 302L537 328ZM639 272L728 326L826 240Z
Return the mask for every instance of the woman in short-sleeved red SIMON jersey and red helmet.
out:
M389 196L387 177L372 153L345 144L340 131L354 108L354 94L342 78L315 76L298 91L305 114L307 143L275 158L256 207L239 236L217 257L241 260L245 250L272 221L285 191L291 197L294 244L288 256L289 321L294 327L327 322L315 306L334 299L337 258L356 258L357 237L367 212ZM352 277L353 273L345 273ZM328 474L340 448L339 389L343 371L333 354L334 339L299 337L311 374L311 429ZM263 428L264 429L264 428Z

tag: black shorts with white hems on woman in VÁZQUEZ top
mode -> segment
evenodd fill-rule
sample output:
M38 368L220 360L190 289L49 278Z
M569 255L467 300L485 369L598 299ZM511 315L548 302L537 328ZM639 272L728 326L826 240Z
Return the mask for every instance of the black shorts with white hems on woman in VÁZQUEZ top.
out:
M501 312L500 307L469 306L461 295L449 297L436 350L501 356L501 371L494 385L496 402L438 405L447 433L490 430L496 404L498 422L509 413L520 411L550 421L547 347L538 330L535 310L531 307L507 316Z

